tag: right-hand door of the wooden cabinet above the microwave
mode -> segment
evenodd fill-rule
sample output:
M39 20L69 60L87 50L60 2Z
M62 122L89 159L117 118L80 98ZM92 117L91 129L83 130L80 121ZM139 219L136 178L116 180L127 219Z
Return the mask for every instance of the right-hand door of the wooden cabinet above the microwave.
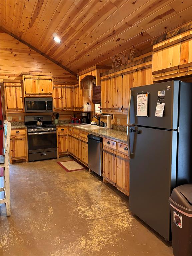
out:
M52 77L39 76L39 96L51 97L53 93Z

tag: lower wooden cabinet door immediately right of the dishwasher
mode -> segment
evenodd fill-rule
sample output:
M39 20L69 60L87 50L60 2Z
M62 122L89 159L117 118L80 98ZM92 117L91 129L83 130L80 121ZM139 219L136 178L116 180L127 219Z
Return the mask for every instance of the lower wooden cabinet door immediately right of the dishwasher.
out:
M116 184L117 158L115 152L110 149L104 149L103 151L103 176Z

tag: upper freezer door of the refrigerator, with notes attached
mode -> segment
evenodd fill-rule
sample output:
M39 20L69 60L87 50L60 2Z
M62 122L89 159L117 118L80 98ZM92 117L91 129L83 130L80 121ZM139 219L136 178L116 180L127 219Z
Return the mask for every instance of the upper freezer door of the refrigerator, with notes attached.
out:
M177 129L178 127L178 99L180 81L169 81L158 84L131 88L132 97L130 104L130 124L157 127L165 129ZM158 92L165 91L163 97L158 98ZM148 92L149 116L137 117L137 94ZM163 93L162 93L163 94ZM164 102L163 117L155 116L157 102Z

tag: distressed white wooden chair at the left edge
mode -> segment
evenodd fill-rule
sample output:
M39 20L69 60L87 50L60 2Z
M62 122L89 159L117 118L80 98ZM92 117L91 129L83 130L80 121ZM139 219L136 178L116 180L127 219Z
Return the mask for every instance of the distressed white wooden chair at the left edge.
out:
M11 123L7 120L4 122L3 131L3 155L0 155L0 168L3 168L4 186L0 191L4 191L4 198L0 199L0 203L5 203L7 216L11 216L10 204L10 183L9 183L9 148L11 136Z

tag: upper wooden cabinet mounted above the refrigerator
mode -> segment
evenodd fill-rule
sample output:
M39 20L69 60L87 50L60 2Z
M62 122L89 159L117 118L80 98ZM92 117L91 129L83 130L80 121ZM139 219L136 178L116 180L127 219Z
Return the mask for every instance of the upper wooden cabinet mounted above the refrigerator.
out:
M153 81L192 75L192 29L178 34L179 31L152 40Z

